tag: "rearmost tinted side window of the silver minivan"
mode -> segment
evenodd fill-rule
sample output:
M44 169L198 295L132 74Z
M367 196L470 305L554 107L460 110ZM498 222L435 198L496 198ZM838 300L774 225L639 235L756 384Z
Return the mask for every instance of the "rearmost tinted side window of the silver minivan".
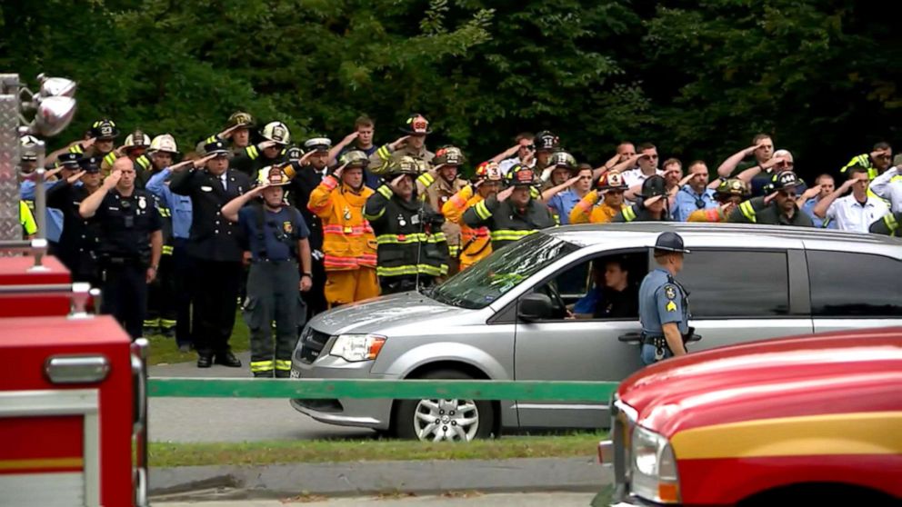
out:
M809 250L806 257L813 315L902 315L902 262L882 255L818 250Z

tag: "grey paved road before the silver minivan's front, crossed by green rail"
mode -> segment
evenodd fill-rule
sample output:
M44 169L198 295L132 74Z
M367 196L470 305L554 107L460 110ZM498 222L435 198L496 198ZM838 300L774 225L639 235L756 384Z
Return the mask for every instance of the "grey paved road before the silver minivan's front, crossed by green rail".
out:
M150 367L152 377L249 377L250 353L237 354L242 368L195 363ZM343 428L310 419L286 400L250 398L150 398L152 442L249 442L321 438L374 438L366 429Z

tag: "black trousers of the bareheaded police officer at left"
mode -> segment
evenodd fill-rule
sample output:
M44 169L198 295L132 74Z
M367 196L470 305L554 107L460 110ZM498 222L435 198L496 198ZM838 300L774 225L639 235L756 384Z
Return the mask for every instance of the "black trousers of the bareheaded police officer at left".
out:
M101 312L113 315L132 340L141 336L147 311L147 268L142 263L104 263Z

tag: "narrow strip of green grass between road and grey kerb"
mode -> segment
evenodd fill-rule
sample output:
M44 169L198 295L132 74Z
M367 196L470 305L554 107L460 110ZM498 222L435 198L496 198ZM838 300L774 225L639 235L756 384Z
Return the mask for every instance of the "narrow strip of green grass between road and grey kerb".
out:
M406 460L505 460L596 455L605 432L554 436L512 436L467 443L401 440L312 440L240 443L151 442L155 467L286 462L371 462Z

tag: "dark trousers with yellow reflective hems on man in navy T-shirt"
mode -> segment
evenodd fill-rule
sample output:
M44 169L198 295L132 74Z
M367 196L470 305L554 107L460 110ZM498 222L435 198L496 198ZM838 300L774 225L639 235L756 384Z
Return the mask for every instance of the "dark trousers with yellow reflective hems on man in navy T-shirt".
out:
M298 288L300 273L295 261L251 264L243 306L251 332L251 373L255 376L288 377L291 354L297 343L297 328L304 324L304 303ZM273 327L276 321L276 346Z

